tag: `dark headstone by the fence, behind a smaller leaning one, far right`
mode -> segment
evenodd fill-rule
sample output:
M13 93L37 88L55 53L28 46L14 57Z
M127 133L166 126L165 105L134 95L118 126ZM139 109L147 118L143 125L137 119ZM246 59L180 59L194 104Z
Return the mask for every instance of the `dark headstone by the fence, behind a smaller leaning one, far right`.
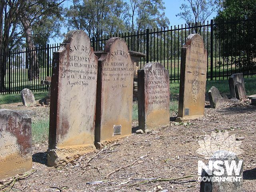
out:
M232 74L228 78L228 84L229 84L231 98L238 98L238 96L236 95L236 88L235 88L237 82L240 82L242 84L242 88L244 90L244 95L246 95L245 87L244 87L244 76L242 73L236 73L236 74Z

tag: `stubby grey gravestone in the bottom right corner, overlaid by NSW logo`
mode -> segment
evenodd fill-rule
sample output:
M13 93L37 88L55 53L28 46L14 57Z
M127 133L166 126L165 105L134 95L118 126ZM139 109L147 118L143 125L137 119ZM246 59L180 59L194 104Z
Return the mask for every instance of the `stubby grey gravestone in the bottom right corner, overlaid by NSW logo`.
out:
M220 175L220 169L216 170L214 167L212 175L203 170L200 192L242 192L243 161L239 161L236 154L224 150L217 151L209 160L212 161L212 164L218 161L218 166L224 170L224 173ZM235 166L237 166L237 171L228 172L226 164L228 163L228 166L232 167L231 164L234 165L234 162Z

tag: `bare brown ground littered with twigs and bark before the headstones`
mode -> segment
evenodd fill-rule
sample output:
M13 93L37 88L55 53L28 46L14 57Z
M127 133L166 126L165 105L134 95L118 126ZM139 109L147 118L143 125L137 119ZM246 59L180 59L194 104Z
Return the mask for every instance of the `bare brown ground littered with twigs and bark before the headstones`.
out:
M206 105L208 104L206 102ZM3 107L12 108L11 105ZM48 109L41 110L47 113ZM204 157L196 152L199 148L198 140L210 135L212 131L228 131L230 135L235 134L236 138L244 138L240 146L243 153L239 155L239 158L244 160L243 191L256 192L256 106L250 105L250 101L231 103L222 109L206 106L205 116L191 120L190 123L192 124L184 126L171 121L170 126L158 128L151 134L133 133L112 143L112 146L105 150L86 154L61 168L48 167L48 145L37 144L33 154L35 172L15 182L12 191L199 192L200 182L182 184L170 181L149 182L142 179L192 176L176 181L196 180L198 160L204 161ZM133 130L136 130L137 125L138 122L133 122ZM100 154L95 156L99 152ZM110 174L120 167L122 168L119 171ZM110 176L106 178L108 174ZM90 183L94 181L101 182Z

